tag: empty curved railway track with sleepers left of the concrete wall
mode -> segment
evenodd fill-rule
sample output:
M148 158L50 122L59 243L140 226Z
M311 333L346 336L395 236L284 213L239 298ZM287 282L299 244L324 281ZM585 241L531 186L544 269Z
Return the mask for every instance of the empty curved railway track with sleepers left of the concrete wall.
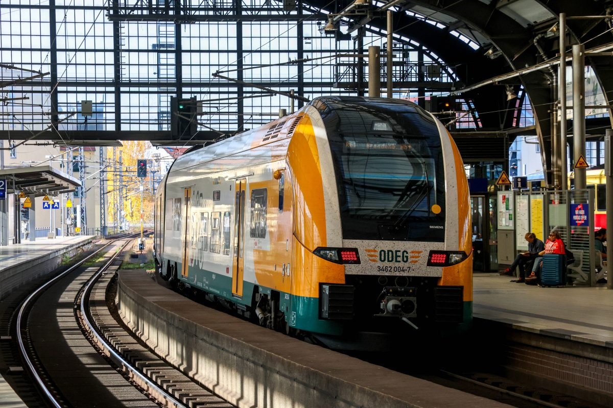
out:
M107 285L131 241L108 243L42 284L18 309L18 347L45 404L232 407L151 354L109 311Z

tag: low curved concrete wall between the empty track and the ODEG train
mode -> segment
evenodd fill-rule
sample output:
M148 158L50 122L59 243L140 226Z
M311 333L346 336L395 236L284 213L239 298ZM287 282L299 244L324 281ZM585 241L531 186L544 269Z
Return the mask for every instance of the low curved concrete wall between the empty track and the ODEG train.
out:
M211 310L142 272L120 272L116 300L154 352L238 407L506 407Z

